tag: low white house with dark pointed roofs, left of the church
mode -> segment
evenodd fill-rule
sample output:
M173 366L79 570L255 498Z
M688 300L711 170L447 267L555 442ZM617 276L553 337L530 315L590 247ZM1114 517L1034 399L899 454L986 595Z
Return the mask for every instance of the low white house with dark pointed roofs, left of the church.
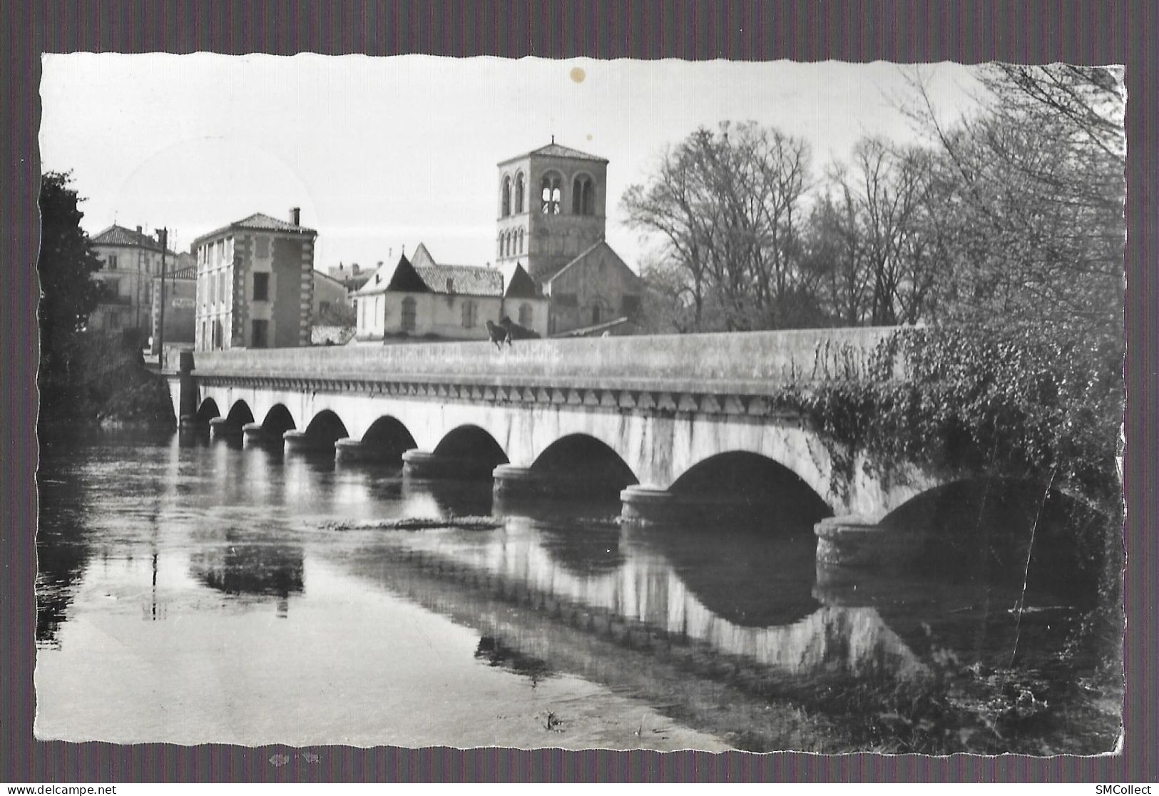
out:
M518 263L440 265L422 243L410 260L374 271L353 299L358 341L487 339L487 321L504 316L547 331L547 300Z

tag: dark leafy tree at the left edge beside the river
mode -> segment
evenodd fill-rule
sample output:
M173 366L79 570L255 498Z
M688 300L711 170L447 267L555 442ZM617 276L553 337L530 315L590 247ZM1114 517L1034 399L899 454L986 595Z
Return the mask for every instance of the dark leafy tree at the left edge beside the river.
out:
M67 173L49 171L41 178L41 372L44 408L65 400L70 392L78 336L102 295L93 279L101 261L81 229L82 199L70 188Z

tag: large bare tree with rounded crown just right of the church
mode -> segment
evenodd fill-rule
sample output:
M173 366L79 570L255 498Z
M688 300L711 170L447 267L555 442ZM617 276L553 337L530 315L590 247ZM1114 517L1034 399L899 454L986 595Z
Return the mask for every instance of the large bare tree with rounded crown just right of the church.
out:
M807 321L800 233L809 147L755 123L700 129L624 195L629 226L655 235L654 287L690 312L690 331L778 329ZM685 317L685 315L687 317Z

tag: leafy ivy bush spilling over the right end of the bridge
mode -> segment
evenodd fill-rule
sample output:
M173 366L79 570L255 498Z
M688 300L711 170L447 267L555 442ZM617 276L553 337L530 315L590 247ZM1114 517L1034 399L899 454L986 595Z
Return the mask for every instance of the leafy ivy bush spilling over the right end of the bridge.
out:
M1120 341L1029 326L906 329L867 363L818 351L814 379L774 401L847 450L846 476L862 451L887 472L914 463L1054 483L1117 516L1122 357Z

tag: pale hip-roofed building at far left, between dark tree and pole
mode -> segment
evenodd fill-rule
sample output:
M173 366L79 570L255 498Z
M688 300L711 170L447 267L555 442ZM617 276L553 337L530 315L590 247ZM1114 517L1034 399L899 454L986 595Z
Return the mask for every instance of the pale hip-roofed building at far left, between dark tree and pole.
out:
M148 334L153 307L153 276L161 273L160 233L145 234L114 224L93 239L101 270L93 275L102 282L108 298L88 319L94 331L139 329ZM166 251L168 268L180 268L177 254Z

